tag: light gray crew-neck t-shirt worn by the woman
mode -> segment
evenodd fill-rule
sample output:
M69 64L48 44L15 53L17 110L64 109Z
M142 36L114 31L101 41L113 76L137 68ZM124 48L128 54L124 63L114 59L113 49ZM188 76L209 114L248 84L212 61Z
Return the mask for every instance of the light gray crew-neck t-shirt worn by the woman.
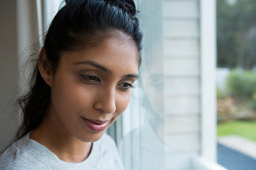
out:
M79 163L60 160L29 135L15 141L0 155L0 169L123 169L116 144L108 134L93 142L89 157Z

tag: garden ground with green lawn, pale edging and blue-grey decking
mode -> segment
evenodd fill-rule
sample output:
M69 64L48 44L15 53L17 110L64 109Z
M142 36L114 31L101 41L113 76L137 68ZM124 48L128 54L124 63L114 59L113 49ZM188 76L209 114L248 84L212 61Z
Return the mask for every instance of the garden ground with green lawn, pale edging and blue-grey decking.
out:
M218 163L229 170L256 169L256 121L218 124Z

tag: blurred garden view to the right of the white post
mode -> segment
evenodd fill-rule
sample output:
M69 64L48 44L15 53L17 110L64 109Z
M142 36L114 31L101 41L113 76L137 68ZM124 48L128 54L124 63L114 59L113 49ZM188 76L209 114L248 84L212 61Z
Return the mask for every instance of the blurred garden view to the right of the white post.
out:
M255 1L217 0L218 162L228 169L256 168L255 17Z

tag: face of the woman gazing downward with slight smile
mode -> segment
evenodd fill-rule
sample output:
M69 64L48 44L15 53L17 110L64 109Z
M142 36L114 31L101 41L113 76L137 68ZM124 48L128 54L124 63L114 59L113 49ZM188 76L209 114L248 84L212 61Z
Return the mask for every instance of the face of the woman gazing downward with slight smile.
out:
M51 83L49 117L56 129L84 142L98 140L126 109L138 65L136 46L117 38L64 53Z

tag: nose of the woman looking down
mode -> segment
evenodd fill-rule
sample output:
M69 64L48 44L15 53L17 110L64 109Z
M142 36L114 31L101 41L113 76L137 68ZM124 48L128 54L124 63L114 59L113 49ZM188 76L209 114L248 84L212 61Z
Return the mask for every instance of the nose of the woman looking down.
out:
M105 114L114 113L116 111L115 88L104 88L100 90L94 107L103 110Z

